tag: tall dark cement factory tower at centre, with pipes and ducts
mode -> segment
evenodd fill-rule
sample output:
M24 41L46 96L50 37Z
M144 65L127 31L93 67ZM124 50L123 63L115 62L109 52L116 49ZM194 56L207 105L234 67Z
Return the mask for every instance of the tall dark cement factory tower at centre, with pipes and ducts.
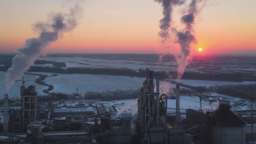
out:
M167 96L159 93L159 76L157 76L157 92L154 92L154 72L147 69L147 77L138 95L138 126L142 141L158 143L165 140L167 118ZM151 134L159 134L155 137Z

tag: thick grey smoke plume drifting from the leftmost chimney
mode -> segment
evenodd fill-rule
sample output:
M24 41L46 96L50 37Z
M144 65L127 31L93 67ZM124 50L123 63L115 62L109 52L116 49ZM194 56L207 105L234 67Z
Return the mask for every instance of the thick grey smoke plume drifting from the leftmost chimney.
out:
M33 30L39 33L37 38L27 39L23 48L13 57L13 65L7 70L5 76L6 92L11 85L33 65L34 61L41 55L43 48L62 37L64 32L75 29L77 19L82 16L82 7L75 5L70 8L69 13L51 13L49 23L38 22L34 24Z

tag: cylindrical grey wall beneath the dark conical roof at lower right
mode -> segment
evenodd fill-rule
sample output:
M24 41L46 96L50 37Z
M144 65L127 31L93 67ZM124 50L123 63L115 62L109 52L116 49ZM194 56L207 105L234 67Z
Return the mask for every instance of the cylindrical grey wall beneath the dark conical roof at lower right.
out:
M245 127L213 126L212 144L245 144Z

